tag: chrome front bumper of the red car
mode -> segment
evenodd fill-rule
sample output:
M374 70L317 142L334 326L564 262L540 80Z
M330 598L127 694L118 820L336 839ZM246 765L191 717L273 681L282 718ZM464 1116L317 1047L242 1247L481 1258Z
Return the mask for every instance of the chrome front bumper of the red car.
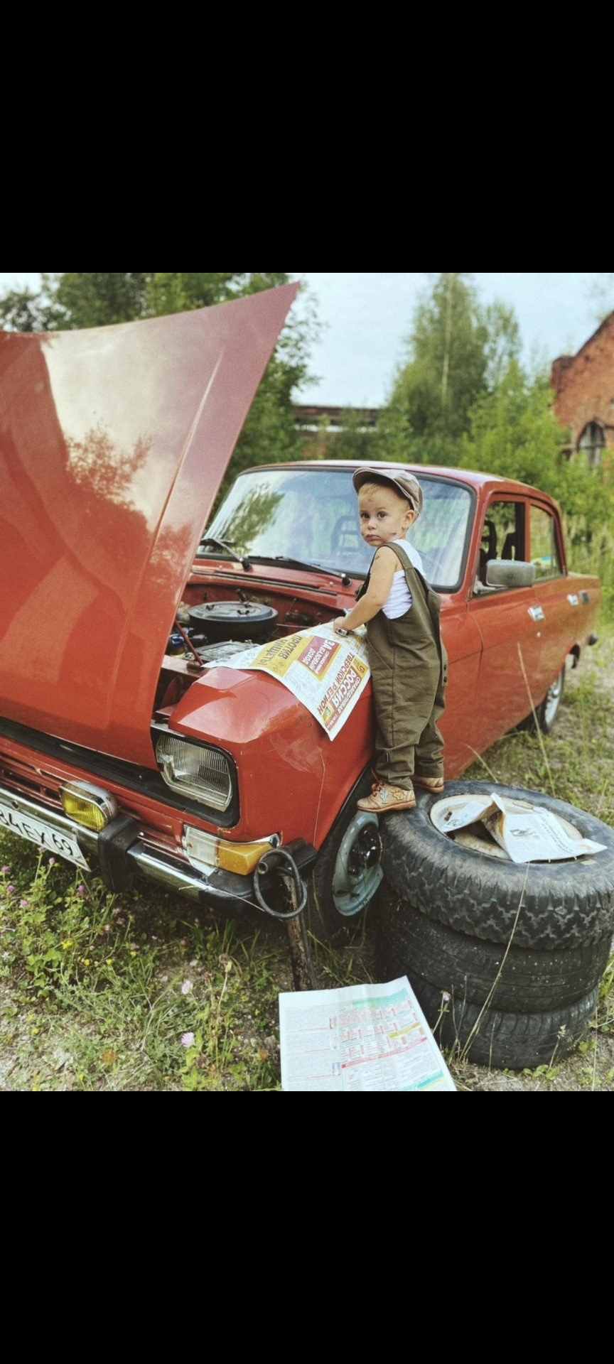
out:
M49 829L76 840L85 855L94 854L109 891L119 893L128 889L135 877L143 877L175 895L184 895L207 904L225 917L240 917L248 906L258 908L251 874L240 876L220 869L210 873L199 872L188 862L181 862L158 848L149 848L138 833L136 822L128 816L117 816L98 835L70 820L64 813L8 787L0 786L0 803L14 810L18 818L37 820ZM14 832L20 832L16 825ZM315 858L315 848L304 844L303 848L295 850L293 855L297 865L307 869Z

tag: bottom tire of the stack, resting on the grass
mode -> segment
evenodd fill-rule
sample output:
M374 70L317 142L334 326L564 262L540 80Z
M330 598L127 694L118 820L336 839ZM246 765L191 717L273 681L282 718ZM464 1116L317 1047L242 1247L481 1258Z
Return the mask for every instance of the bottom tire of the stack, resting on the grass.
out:
M390 960L389 979L407 975L428 1027L452 1057L495 1069L523 1071L557 1064L585 1038L595 1013L599 988L562 1009L513 1013L469 1004L452 994L448 1005L442 990L420 981L400 963ZM475 1031L473 1031L475 1030Z

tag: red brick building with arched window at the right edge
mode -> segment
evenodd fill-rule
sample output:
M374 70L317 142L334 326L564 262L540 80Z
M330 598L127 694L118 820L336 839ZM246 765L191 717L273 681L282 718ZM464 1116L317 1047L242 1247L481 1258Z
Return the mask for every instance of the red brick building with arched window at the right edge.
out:
M569 430L568 458L585 458L588 468L604 462L604 450L614 446L614 312L577 355L554 360L550 383L557 417Z

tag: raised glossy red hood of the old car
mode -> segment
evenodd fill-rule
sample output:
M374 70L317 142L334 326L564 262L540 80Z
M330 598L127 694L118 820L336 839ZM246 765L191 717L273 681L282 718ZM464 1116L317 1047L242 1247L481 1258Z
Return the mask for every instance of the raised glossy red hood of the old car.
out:
M297 288L0 333L0 715L154 765L166 640Z

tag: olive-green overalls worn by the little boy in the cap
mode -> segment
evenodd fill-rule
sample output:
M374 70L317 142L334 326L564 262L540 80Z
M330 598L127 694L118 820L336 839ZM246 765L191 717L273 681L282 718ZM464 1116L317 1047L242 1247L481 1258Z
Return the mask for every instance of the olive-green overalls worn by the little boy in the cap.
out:
M412 787L412 776L443 776L443 713L448 655L439 636L439 596L398 544L394 550L412 595L405 615L383 611L367 621L368 666L375 709L375 775L389 786ZM368 576L357 600L368 587Z

